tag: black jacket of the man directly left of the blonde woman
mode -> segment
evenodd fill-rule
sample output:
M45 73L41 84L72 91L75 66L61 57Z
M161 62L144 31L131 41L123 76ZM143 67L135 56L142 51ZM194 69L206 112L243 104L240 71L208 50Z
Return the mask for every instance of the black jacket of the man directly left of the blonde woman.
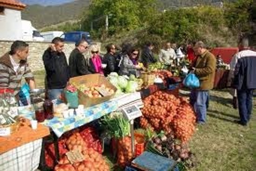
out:
M68 61L70 67L70 77L77 77L92 73L88 69L84 55L77 48L71 52Z

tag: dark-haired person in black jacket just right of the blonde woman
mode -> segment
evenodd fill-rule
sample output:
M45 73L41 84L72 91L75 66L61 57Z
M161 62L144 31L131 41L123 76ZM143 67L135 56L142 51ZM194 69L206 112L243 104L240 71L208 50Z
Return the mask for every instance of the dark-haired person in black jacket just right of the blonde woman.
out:
M115 59L115 45L108 44L106 46L107 53L104 55L103 63L107 64L107 67L104 70L104 74L108 75L110 72L118 72L116 59Z

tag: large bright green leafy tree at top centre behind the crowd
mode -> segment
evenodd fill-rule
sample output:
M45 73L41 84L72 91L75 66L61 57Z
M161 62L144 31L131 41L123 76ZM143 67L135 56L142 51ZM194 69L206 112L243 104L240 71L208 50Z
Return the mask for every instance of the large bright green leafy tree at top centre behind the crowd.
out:
M156 0L92 0L84 13L83 26L88 30L90 22L98 33L103 32L104 16L109 15L108 33L129 31L147 24L156 13ZM102 17L103 16L103 17ZM102 20L97 20L101 19Z

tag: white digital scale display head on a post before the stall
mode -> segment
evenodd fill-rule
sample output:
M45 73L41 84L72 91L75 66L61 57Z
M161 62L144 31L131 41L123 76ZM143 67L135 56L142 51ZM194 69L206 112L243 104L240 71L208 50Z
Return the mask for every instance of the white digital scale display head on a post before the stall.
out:
M135 118L139 118L142 116L141 110L137 105L130 105L122 108L121 112L124 117L128 120L134 120Z

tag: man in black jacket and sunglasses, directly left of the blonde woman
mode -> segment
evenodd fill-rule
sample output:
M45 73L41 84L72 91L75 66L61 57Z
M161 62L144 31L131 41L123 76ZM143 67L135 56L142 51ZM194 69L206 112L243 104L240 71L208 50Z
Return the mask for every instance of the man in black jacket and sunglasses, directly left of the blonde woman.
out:
M86 40L81 39L77 44L75 49L71 52L69 56L69 67L70 67L70 77L77 77L81 75L90 74L88 71L88 66L86 65L86 60L83 55L88 50L88 43Z

